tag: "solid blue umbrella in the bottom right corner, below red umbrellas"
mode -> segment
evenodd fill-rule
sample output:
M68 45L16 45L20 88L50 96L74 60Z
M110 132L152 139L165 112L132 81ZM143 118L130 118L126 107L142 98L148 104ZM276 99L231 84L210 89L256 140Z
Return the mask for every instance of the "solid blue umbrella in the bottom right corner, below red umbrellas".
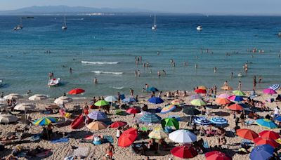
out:
M274 148L270 145L258 145L251 150L251 160L265 160L273 157Z

